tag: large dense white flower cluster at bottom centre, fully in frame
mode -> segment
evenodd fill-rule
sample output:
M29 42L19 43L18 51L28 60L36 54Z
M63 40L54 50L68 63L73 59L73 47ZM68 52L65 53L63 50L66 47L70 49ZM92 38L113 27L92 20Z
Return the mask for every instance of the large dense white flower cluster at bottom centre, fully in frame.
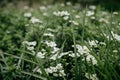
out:
M49 68L46 68L45 71L47 74L53 74L53 76L55 76L55 77L66 76L61 63L57 64L56 67L50 66Z

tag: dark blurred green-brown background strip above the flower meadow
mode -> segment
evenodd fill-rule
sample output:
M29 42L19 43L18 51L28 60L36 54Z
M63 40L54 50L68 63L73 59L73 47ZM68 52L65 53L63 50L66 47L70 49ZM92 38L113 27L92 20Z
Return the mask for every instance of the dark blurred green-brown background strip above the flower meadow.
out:
M8 4L13 4L13 5L28 5L28 6L33 6L33 5L47 5L47 4L55 4L55 3L66 3L66 2L71 2L73 5L81 4L82 6L86 5L100 5L104 7L107 10L120 10L120 0L0 0L0 7L6 7Z

